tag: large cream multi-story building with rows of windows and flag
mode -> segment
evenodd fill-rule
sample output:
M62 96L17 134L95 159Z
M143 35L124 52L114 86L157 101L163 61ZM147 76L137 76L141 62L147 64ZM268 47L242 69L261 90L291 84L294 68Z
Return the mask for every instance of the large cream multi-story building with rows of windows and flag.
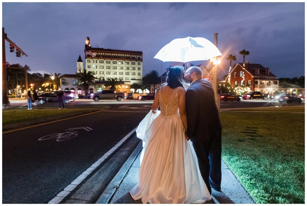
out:
M85 50L86 51L86 50ZM85 53L85 69L93 71L97 81L117 78L124 84L142 85L143 52L91 48Z

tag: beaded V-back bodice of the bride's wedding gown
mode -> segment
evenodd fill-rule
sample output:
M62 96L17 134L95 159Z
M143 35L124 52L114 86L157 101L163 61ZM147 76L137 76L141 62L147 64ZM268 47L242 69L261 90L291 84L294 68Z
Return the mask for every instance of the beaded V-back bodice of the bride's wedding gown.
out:
M178 99L179 88L180 87L177 87L175 89L167 105L165 105L164 101L162 100L161 90L158 91L161 115L163 116L179 115L179 99Z

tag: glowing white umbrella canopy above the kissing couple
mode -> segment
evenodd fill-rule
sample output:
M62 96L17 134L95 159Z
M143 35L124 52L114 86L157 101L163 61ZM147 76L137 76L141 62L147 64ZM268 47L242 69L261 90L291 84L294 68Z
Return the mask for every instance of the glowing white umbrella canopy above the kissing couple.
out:
M153 57L163 62L192 62L208 60L222 55L219 49L208 39L202 37L186 37L174 39L166 44Z

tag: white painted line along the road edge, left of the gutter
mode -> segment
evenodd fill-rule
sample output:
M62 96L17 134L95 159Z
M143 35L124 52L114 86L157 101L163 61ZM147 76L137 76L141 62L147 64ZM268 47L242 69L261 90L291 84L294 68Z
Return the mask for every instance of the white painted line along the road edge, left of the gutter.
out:
M110 111L114 112L114 111ZM122 112L122 111L117 111ZM137 127L136 127L137 128ZM60 193L58 193L52 200L48 202L48 204L58 204L60 201L64 199L73 189L76 188L93 170L95 170L109 155L111 155L122 143L128 139L133 132L135 132L136 128L134 128L131 132L129 132L124 138L122 138L114 147L112 147L109 151L107 151L101 158L99 158L94 164L92 164L86 171L80 174L72 183L67 185Z

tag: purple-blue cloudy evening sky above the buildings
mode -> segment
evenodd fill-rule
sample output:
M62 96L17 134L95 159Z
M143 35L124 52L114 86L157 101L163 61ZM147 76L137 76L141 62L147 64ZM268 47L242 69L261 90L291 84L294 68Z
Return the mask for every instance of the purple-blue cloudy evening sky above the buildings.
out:
M17 58L6 43L6 61L31 72L73 74L84 40L92 47L143 52L143 74L161 61L154 55L176 38L204 37L228 54L269 67L281 77L305 75L304 3L2 3L2 26L29 56ZM207 62L193 62L194 64ZM163 71L170 63L163 63ZM223 72L222 72L223 73Z

